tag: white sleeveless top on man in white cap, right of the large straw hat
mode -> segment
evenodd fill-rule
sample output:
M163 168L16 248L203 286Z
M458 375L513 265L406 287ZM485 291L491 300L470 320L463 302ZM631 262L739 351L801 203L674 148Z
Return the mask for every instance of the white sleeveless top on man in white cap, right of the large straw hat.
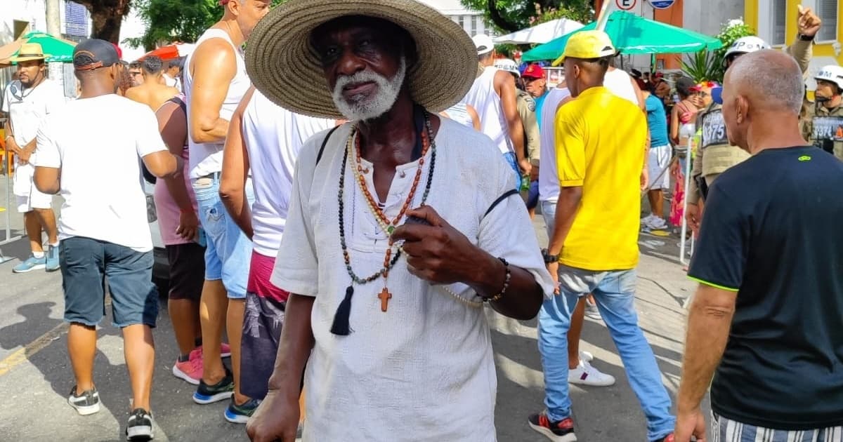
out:
M513 152L513 141L509 137L509 125L503 115L501 97L495 90L497 67L486 67L463 102L474 106L480 117L480 131L486 134L501 153Z

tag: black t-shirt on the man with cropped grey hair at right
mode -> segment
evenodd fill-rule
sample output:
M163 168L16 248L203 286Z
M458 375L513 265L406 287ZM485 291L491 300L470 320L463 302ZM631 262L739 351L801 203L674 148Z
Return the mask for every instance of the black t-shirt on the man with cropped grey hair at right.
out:
M843 162L769 149L722 173L688 274L737 292L711 408L755 426L843 425Z

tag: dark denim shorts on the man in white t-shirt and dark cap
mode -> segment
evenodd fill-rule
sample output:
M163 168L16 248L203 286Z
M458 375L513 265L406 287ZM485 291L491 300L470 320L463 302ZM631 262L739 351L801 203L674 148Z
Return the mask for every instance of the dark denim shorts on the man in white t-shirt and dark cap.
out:
M112 242L69 237L59 245L64 320L95 326L105 316L105 284L115 327L155 327L158 290L153 285L153 253Z

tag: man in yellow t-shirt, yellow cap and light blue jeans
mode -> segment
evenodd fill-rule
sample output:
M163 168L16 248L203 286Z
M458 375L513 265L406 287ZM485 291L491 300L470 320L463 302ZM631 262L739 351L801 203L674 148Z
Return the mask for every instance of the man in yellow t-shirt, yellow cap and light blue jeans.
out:
M615 48L602 31L579 32L565 48L565 80L575 99L556 112L561 189L545 256L558 294L539 313L545 411L529 417L533 429L556 442L577 440L566 333L577 300L588 293L594 295L647 417L647 439L673 438L670 397L633 304L647 120L635 104L604 88L613 56Z

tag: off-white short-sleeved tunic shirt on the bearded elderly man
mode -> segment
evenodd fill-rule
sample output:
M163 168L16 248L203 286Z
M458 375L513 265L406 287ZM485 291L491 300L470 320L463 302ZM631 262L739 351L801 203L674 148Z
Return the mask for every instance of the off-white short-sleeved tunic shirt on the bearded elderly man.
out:
M486 214L498 196L514 187L512 168L486 136L441 119L436 164L427 205L471 242L513 266L534 274L552 293L550 274L524 202L513 195ZM273 284L315 296L313 353L305 373L305 441L330 440L491 442L497 377L491 338L481 308L467 306L411 275L402 256L389 272L393 297L381 312L378 293L384 280L354 285L352 333L330 333L336 308L351 280L340 247L337 190L350 125L336 130L318 165L326 132L311 138L299 153L287 227L272 274ZM354 157L345 173L345 231L352 268L363 277L384 262L387 237L368 211L355 184ZM431 152L411 207L421 203ZM411 188L417 162L396 168L384 202L390 219ZM364 175L375 194L372 166ZM451 285L475 300L465 285Z

